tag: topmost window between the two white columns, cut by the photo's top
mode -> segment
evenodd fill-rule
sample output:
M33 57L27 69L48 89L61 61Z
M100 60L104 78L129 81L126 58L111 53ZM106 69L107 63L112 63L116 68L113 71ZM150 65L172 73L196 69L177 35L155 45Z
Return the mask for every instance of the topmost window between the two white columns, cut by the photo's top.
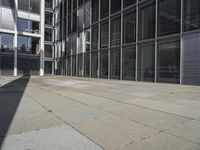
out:
M18 8L33 13L40 13L40 0L18 0Z

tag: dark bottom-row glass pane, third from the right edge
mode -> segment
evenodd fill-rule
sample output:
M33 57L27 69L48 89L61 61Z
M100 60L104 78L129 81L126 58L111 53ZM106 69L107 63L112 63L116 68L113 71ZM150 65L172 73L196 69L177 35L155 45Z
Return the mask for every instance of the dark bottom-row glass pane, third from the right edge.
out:
M146 44L138 50L138 81L155 80L155 46Z

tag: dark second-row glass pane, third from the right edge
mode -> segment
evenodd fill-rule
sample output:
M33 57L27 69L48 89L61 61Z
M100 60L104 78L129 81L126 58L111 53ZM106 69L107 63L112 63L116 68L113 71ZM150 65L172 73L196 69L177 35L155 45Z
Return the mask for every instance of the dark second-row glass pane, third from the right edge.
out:
M139 39L155 38L155 3L150 3L139 8Z

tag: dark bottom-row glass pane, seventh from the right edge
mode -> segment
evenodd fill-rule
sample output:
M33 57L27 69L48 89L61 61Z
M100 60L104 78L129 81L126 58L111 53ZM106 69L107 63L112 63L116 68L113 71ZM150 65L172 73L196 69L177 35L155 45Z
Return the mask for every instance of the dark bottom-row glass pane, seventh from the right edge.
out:
M91 73L93 78L97 78L97 72L98 72L98 52L91 53Z

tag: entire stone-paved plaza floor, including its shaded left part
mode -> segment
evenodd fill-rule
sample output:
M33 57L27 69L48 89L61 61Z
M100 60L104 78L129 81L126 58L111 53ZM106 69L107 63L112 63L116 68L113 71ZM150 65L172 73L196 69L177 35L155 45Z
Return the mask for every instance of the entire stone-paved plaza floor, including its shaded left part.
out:
M200 150L200 87L0 76L2 150Z

